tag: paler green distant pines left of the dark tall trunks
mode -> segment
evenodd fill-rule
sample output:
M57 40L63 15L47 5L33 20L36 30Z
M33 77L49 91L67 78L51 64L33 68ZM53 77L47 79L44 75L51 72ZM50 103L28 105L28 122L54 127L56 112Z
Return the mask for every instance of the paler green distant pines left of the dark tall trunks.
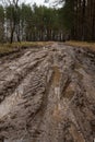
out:
M0 5L0 42L64 40L60 9L17 2Z

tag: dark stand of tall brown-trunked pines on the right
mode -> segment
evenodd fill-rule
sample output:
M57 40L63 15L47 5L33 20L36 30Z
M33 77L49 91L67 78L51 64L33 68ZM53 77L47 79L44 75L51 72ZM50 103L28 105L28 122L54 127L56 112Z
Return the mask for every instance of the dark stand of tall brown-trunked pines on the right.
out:
M63 0L63 24L72 39L95 40L95 0Z

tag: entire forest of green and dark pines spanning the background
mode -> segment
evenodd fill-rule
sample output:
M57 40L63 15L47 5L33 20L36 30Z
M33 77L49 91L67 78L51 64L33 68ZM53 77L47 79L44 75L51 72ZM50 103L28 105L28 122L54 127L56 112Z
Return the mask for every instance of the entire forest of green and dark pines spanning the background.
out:
M0 5L0 43L95 40L95 0L62 0L62 8L19 0Z

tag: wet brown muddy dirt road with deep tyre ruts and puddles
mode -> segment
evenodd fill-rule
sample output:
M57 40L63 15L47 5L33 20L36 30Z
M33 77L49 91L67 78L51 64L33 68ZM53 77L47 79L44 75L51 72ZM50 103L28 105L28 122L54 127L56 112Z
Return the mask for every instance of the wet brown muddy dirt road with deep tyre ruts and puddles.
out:
M0 59L0 142L93 142L95 52L63 44Z

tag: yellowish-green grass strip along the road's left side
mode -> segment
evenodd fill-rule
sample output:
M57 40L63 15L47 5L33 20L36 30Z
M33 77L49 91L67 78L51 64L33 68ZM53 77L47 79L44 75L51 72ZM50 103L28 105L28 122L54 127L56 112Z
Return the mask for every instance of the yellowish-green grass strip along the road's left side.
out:
M41 47L51 44L52 42L22 42L22 43L13 43L13 44L0 44L0 54L11 52L21 47Z

